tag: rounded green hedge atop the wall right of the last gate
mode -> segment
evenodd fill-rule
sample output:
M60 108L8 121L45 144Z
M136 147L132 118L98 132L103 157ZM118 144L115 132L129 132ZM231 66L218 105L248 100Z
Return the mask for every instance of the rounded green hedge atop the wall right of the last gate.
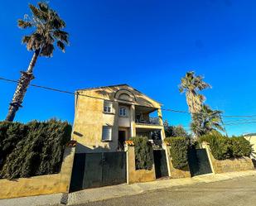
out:
M225 137L220 132L200 137L200 142L206 141L210 144L210 151L216 160L226 160L250 156L252 146L244 137Z

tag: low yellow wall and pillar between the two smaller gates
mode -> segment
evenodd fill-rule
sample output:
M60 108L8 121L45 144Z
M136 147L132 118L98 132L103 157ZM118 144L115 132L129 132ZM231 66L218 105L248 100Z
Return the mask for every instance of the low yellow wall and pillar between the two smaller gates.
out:
M173 167L172 162L171 162L170 146L167 146L167 161L169 163L167 165L169 166L171 178L176 179L176 178L191 177L191 172L190 172L190 169L188 166L184 170L179 170L179 169L176 169Z

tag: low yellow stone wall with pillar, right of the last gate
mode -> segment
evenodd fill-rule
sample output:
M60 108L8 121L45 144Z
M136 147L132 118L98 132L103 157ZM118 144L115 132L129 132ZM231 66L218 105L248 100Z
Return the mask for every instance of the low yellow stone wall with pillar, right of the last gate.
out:
M249 157L234 158L229 160L216 160L210 152L210 146L203 142L202 147L206 149L208 156L210 157L210 166L215 174L243 171L243 170L254 170L253 161Z

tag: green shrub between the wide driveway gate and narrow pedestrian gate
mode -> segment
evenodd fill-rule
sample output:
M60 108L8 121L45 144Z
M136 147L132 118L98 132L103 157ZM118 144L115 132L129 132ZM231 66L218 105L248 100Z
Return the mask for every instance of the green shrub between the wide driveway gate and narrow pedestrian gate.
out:
M152 144L147 137L133 137L136 170L152 170Z

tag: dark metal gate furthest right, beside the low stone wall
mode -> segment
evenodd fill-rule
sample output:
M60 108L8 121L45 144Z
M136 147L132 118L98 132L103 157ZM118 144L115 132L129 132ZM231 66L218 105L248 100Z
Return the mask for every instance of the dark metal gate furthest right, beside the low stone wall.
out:
M205 149L190 148L188 151L188 162L191 176L212 173L210 161Z

